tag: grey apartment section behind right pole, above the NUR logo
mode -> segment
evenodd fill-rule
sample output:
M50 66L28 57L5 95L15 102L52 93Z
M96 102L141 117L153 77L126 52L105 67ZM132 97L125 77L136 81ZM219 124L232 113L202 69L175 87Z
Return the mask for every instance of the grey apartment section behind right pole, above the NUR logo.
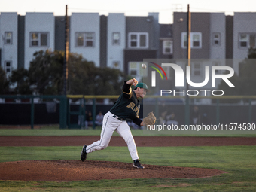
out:
M187 13L173 17L173 58L187 58ZM225 59L224 13L191 13L191 59Z

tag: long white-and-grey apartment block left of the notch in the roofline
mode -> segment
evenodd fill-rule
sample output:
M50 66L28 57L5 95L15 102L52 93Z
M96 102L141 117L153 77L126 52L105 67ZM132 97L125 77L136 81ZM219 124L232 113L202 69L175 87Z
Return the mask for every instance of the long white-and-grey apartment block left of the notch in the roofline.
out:
M145 17L72 13L68 20L69 51L98 67L120 69L139 78L143 59L155 59L162 53L158 13ZM0 65L5 72L11 75L14 69L29 69L38 50L64 50L65 23L64 16L55 17L53 13L1 13ZM171 39L168 35L164 38L168 42L162 55L172 55Z

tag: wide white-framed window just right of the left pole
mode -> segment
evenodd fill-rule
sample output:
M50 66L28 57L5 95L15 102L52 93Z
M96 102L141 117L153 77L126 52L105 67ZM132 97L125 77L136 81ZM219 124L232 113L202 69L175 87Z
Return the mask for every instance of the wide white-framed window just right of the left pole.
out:
M78 45L78 35L82 36L82 44ZM91 35L91 36L90 36ZM87 43L91 42L92 45ZM76 47L95 47L95 32L75 32L75 46Z

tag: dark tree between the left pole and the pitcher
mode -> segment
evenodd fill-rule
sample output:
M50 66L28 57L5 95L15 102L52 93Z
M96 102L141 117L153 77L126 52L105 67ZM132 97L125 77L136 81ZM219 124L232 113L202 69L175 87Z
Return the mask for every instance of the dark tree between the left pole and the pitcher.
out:
M120 70L98 68L80 55L69 57L69 94L116 95L126 75Z

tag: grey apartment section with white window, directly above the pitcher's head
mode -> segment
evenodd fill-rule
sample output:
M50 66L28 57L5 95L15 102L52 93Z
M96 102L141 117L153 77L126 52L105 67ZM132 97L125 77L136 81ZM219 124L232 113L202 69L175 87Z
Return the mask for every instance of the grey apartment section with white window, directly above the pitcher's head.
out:
M157 20L157 22L155 21ZM126 17L126 49L124 50L124 72L142 78L143 59L157 58L158 14L148 17Z

